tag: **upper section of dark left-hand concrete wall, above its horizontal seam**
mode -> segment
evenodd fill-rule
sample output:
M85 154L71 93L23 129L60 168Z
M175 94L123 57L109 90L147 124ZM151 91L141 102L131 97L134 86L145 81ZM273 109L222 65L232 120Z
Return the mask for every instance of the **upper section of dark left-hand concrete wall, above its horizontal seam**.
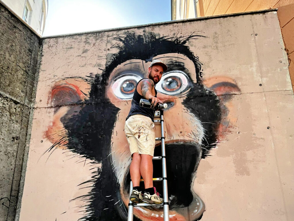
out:
M31 106L40 39L0 6L1 94Z

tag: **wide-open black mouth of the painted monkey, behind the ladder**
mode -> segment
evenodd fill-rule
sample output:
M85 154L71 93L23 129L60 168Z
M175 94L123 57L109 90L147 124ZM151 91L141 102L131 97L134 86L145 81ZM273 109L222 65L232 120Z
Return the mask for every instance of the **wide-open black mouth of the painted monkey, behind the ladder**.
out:
M154 156L161 156L160 144L156 145ZM191 190L200 158L201 147L198 144L183 142L166 144L169 208L186 217L186 220L197 220L204 211L203 201ZM153 177L162 177L161 160L153 161ZM153 182L153 184L159 193L163 193L161 181ZM144 189L143 182L140 186ZM129 192L129 187L130 175L128 173L124 180L125 193ZM148 207L148 210L154 209Z

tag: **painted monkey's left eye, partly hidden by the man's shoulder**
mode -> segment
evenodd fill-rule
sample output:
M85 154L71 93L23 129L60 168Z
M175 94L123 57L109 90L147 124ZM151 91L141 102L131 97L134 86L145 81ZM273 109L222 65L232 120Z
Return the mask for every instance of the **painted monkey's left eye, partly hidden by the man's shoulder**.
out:
M120 99L132 99L137 83L142 77L135 74L124 74L116 79L111 86L113 93Z

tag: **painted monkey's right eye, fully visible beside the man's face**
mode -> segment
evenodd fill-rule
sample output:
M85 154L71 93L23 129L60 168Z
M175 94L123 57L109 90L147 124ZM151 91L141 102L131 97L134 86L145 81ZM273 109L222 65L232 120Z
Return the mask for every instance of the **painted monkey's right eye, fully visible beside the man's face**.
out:
M167 95L180 95L190 87L189 77L186 73L172 70L162 75L161 80L156 84L156 90Z

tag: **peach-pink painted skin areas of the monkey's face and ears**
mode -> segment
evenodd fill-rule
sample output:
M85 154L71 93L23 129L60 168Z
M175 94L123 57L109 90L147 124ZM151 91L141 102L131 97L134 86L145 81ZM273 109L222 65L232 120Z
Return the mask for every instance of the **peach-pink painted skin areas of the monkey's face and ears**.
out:
M178 54L167 54L165 55L166 62L168 62L168 57L174 57L174 56L180 56L181 58L185 59L185 67L190 67L191 65L193 67L193 63L191 64L191 61L186 58L184 55L178 55ZM174 58L173 58L174 59ZM163 59L162 59L163 60ZM133 60L131 60L133 61ZM136 60L135 60L136 61ZM140 60L141 61L141 60ZM129 61L130 62L130 61ZM140 62L141 63L141 62ZM121 66L123 66L122 64ZM146 64L148 65L148 63ZM118 66L116 69L121 68ZM144 67L145 70L148 67ZM116 70L115 69L115 70ZM115 72L113 70L113 73ZM147 75L147 74L146 74ZM145 75L145 77L146 77ZM128 165L130 164L130 154L129 154L129 148L128 144L125 138L125 134L123 133L123 127L124 127L124 122L126 119L126 116L128 115L129 109L131 102L129 99L121 99L119 98L116 94L115 91L113 90L113 85L114 83L112 80L114 76L111 75L110 79L108 81L108 87L106 88L106 96L110 101L118 108L120 108L120 112L117 114L117 120L116 124L114 125L113 128L113 135L111 137L111 152L114 154L111 155L112 161L115 162L115 166L117 168L116 170L116 177L118 178L118 182L120 183L120 193L121 193L121 198L123 200L123 203L125 205L128 205L128 190L124 188L124 178L126 177L126 169L128 168ZM193 81L196 81L193 76L191 76ZM206 85L208 85L209 88L213 87L213 85L216 85L218 82L233 82L232 80L225 78L225 77L219 77L219 79L214 78L214 79L208 79L204 81ZM80 90L83 87L83 82L80 81L75 81L71 82L69 79L66 79L66 81L60 81L58 84L55 85L54 90L52 91L53 94L56 93L56 90L63 90L61 85L63 85L63 89L65 89L64 85L67 87L71 87L72 89L76 90L76 94L81 98L85 99L85 96L83 93L79 93L78 90ZM88 87L88 85L87 85ZM66 89L68 90L68 89ZM224 91L227 90L228 93L233 92L236 90L235 88L225 88L225 87L217 87L216 92ZM89 92L86 89L82 90L83 92ZM52 96L53 96L52 94ZM55 96L55 95L54 95ZM53 96L53 97L54 97ZM186 142L186 143L201 143L202 142L202 133L203 129L201 127L201 124L198 124L198 119L191 114L183 105L182 101L185 99L185 95L182 96L171 96L171 95L166 95L163 93L158 92L158 98L163 101L163 102L173 102L173 106L169 108L168 110L165 111L165 119L172 119L171 121L166 120L165 123L165 132L166 132L166 143L175 143L175 142ZM228 101L227 101L228 102ZM69 107L66 107L69 108ZM68 111L68 109L60 108L56 114L54 115L54 120L52 126L48 129L47 135L48 134L54 134L55 131L60 131L63 129L63 125L60 121L60 118ZM180 119L180 121L175 119ZM228 119L226 119L228 120ZM221 134L225 134L225 129L221 128ZM159 129L159 128L158 128ZM159 131L157 129L157 131ZM188 137L188 135L193 131L194 133L197 134L197 137L193 137L193 139ZM50 138L49 140L54 143L54 137ZM62 147L63 146L63 147ZM61 145L61 148L64 148L64 145ZM193 189L193 182L196 179L196 174L193 174L193 179L192 179L192 184L191 184L191 192L193 194L194 200L193 202L189 205L189 208L191 210L191 213L189 214L189 217L191 220L197 219L200 215L202 215L201 211L196 211L195 208L199 208L197 203L203 203L202 200L198 197L198 195L195 193L195 190ZM197 201L198 200L198 201ZM194 209L193 209L194 208ZM182 214L183 208L181 210L178 210L177 208L171 209L170 210L170 219L172 220L188 220L188 217L184 214ZM153 210L153 209L147 209L147 208L139 208L135 207L134 209L134 214L136 217L138 217L141 220L163 220L163 211L162 210Z

